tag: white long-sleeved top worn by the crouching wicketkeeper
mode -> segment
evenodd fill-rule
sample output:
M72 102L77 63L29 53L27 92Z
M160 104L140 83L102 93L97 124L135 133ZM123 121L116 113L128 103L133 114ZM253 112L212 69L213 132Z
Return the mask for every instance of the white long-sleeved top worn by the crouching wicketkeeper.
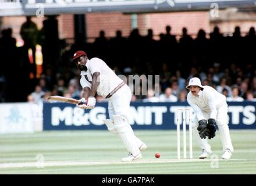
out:
M226 97L212 87L202 87L204 90L200 90L198 96L194 96L190 91L187 94L187 102L194 109L198 120L205 119L202 112L210 113L210 118L216 120L217 109L226 104Z

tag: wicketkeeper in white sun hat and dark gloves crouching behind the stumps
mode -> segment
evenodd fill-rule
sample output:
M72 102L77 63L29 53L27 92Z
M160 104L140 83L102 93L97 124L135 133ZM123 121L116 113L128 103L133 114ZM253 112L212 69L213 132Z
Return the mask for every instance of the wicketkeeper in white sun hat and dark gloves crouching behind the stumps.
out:
M230 159L234 148L229 134L226 97L212 87L202 86L197 77L191 78L186 88L190 90L187 102L195 112L193 133L202 149L199 158L205 159L212 154L207 137L215 137L216 123L223 146L222 159Z

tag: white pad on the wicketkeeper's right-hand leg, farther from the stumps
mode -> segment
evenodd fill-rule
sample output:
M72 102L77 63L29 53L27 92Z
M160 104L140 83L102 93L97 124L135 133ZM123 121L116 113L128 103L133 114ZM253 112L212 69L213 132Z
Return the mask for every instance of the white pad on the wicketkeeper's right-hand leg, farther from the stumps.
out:
M222 124L219 127L219 134L221 135L221 142L223 146L223 151L229 149L231 152L234 151L230 134L229 134L229 126L227 124Z

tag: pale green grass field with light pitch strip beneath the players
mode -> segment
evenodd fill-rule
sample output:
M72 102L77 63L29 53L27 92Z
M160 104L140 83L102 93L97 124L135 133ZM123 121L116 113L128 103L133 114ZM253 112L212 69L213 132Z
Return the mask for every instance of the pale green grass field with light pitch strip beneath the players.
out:
M201 149L194 139L194 159L177 160L174 130L134 133L148 148L142 159L129 163L120 162L127 154L125 146L108 131L1 134L0 174L256 174L256 130L230 131L234 146L230 160L221 159L219 133L209 141L217 160L199 160ZM157 152L159 159L154 157ZM32 165L19 164L27 162Z

